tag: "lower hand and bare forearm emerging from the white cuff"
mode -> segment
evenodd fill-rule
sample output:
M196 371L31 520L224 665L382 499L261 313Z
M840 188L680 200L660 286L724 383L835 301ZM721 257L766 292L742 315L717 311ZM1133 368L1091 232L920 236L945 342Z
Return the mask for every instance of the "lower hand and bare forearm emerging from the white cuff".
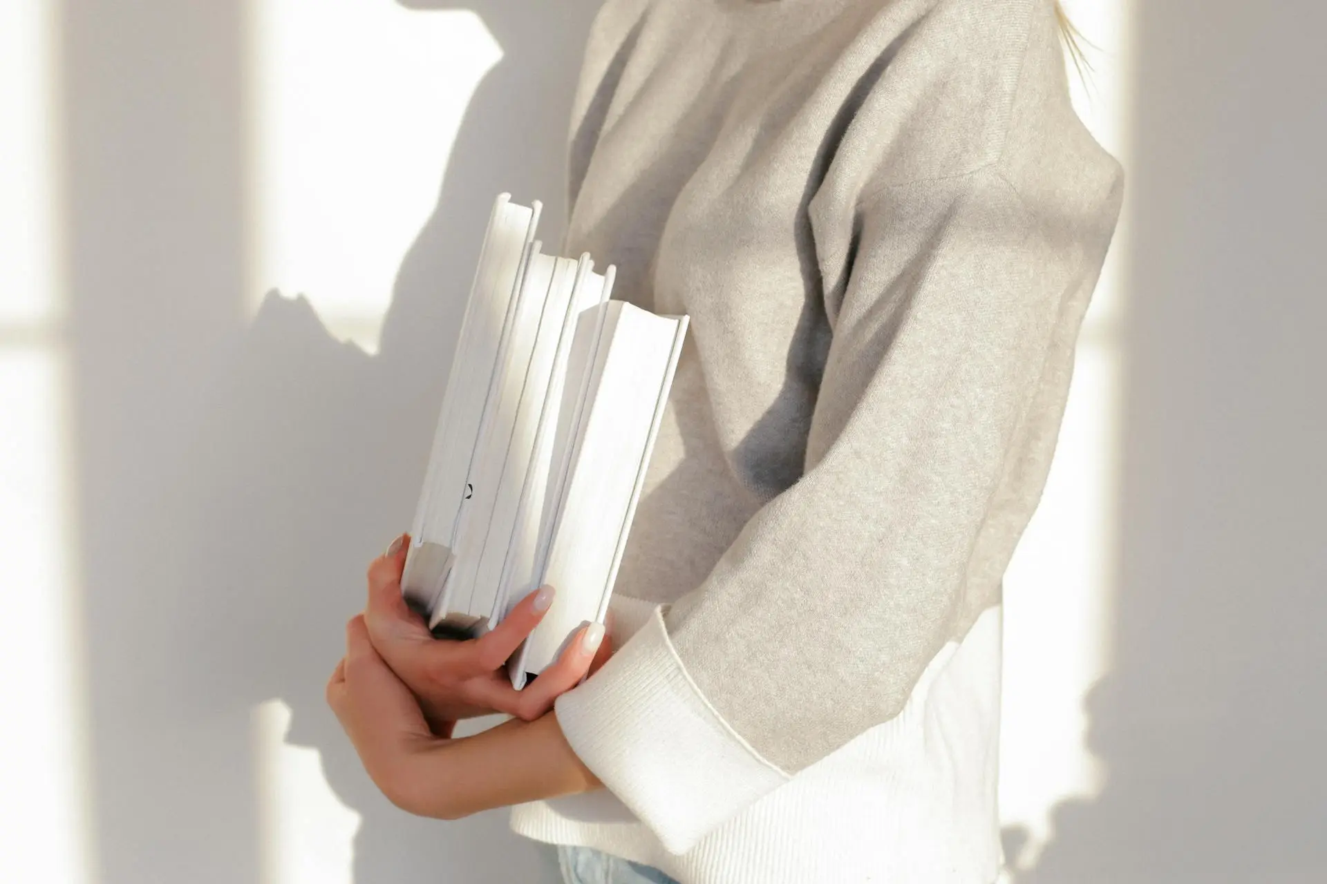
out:
M458 819L601 786L551 713L464 740L434 734L414 694L373 648L364 615L346 626L345 657L326 698L374 785L411 814Z

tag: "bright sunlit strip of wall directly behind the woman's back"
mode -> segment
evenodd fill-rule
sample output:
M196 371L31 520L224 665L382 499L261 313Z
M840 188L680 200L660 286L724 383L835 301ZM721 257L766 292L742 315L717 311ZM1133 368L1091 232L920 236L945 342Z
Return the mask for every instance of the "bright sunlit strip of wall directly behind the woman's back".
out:
M1092 44L1085 81L1070 65L1074 105L1129 166L1133 0L1067 0ZM1095 48L1093 48L1095 46ZM1042 504L1005 579L1001 820L1020 842L1010 869L1036 864L1056 806L1091 799L1109 771L1087 747L1084 700L1109 671L1119 557L1128 201L1083 325L1074 386Z

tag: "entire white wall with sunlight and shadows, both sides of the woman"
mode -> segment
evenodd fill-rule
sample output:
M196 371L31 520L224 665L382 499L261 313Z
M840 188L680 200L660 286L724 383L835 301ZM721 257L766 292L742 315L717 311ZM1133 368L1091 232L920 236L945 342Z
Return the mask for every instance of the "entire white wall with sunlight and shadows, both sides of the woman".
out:
M1318 880L1327 15L1068 5L1129 192L1007 582L1010 879ZM0 4L0 880L555 880L322 684L593 7Z

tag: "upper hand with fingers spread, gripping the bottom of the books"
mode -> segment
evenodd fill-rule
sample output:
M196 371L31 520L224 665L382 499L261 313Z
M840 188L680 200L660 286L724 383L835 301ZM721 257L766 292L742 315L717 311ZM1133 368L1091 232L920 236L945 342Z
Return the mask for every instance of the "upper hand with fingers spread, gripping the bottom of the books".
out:
M398 537L386 554L369 566L369 639L382 660L419 698L425 718L441 736L450 736L459 718L504 712L533 721L559 694L602 665L612 653L604 627L587 626L553 665L516 691L504 665L552 603L552 587L525 596L503 622L478 639L434 639L423 619L401 595L409 535Z

